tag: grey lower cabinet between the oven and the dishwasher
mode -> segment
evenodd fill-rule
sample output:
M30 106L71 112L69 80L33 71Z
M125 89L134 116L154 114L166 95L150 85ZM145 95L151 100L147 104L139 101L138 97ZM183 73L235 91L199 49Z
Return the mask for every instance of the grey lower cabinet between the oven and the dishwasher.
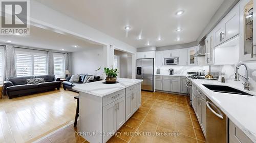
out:
M192 90L193 90L192 106L195 110L198 122L205 136L206 135L206 95L204 95L194 84L192 85Z

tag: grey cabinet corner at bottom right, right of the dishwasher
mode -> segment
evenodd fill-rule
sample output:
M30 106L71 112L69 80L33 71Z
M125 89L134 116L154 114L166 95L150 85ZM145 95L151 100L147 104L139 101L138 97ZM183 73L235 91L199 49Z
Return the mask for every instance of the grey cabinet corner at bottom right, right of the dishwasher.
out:
M229 143L252 143L250 138L229 120Z

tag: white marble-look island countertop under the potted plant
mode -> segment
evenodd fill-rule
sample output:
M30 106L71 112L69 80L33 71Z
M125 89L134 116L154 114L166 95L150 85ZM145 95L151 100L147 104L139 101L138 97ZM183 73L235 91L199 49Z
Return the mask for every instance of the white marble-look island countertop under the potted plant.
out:
M103 97L109 95L116 91L122 90L124 88L130 87L131 85L142 82L140 79L130 79L130 78L117 78L119 83L116 84L103 84L104 80L89 82L85 84L75 85L74 90L79 92L89 93L95 96Z

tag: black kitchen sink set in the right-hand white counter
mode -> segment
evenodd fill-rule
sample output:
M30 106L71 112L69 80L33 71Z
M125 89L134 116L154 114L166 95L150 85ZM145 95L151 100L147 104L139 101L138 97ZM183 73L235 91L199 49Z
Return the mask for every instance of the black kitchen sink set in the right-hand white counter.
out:
M229 93L229 94L240 94L240 95L249 95L253 96L249 93L228 87L223 85L210 85L210 84L203 84L207 89L214 91L214 92L220 92L220 93Z

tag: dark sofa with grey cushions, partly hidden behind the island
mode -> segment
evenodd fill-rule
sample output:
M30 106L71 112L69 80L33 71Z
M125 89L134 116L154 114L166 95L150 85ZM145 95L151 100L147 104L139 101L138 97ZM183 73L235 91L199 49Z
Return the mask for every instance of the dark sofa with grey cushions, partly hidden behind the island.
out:
M73 87L77 84L82 84L83 83L83 80L87 77L87 76L92 76L92 75L88 75L88 74L80 74L80 77L79 77L79 81L78 82L70 82L70 78L71 77L67 77L67 81L63 81L62 84L63 84L63 89L64 90L72 90L72 91L75 91L77 92L76 90L73 90ZM94 79L93 80L90 80L89 82L95 82L95 81L100 81L102 79L100 79L100 76L96 76L94 75Z

